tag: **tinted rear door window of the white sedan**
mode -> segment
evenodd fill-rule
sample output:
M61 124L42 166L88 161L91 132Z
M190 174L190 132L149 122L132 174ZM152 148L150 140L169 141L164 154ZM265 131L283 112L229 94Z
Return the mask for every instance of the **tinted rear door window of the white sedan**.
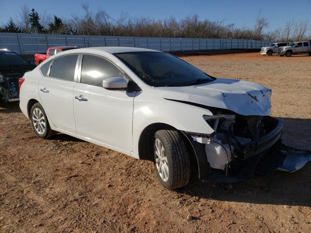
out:
M50 77L73 82L77 58L78 55L73 54L54 59L51 66Z

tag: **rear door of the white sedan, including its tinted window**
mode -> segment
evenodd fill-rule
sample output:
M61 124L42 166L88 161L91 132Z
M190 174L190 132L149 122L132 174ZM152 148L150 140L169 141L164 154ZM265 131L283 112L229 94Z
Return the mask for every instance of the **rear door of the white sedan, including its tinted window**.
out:
M78 54L57 57L50 72L39 82L39 95L45 112L57 128L75 133L72 92Z

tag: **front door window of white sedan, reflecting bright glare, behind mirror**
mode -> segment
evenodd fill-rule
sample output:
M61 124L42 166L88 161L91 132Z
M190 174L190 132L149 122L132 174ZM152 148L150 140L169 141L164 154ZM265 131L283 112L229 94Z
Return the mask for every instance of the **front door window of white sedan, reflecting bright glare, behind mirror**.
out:
M102 57L83 55L81 83L103 87L103 80L112 77L124 78L124 73Z

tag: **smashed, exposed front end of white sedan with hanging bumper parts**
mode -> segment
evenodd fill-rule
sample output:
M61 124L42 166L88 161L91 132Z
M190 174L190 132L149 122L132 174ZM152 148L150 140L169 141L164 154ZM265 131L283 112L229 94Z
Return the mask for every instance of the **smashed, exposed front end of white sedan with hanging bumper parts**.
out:
M234 113L214 114L204 119L214 133L190 133L194 143L203 144L210 167L207 177L201 179L247 181L267 176L276 169L292 172L311 160L308 152L299 154L298 150L289 150L281 143L282 119Z

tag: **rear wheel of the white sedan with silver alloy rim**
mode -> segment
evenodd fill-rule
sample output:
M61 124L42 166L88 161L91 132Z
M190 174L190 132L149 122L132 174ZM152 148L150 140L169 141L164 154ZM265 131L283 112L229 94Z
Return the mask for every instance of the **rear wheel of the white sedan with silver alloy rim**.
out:
M51 129L48 118L40 103L35 103L31 108L30 120L33 130L38 137L49 138L57 133Z

